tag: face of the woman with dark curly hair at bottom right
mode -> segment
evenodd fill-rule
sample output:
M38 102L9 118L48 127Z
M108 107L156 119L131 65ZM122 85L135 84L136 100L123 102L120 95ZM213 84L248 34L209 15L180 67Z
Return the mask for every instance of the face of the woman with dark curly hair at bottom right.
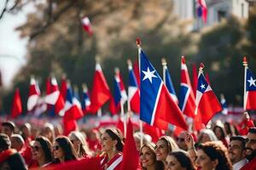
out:
M212 170L215 168L214 161L212 161L203 150L197 151L195 164L200 170Z

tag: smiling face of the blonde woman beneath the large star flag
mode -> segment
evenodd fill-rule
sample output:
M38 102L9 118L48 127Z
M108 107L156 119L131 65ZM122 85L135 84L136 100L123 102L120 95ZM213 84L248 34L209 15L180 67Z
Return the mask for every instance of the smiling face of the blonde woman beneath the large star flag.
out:
M168 145L166 141L163 139L158 140L154 152L157 161L166 161L166 157L168 156Z

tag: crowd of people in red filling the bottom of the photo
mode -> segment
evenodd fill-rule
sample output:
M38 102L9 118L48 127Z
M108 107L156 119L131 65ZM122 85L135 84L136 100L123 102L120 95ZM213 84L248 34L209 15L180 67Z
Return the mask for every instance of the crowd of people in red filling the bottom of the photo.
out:
M0 169L37 169L94 157L99 158L99 167L90 169L122 167L125 138L115 127L64 136L49 122L44 127L32 127L28 122L17 126L10 121L1 125ZM198 134L166 133L156 141L146 133L135 132L137 169L256 169L256 127L246 128L239 133L230 123L217 122Z

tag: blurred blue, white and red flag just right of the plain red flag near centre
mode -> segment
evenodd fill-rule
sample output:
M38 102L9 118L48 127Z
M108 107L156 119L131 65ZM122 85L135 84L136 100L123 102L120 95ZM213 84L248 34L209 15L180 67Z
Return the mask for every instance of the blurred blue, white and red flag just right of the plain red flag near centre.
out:
M125 85L120 76L120 71L118 68L115 69L115 75L113 79L113 97L110 101L109 111L113 114L117 114L121 109L121 100L123 105L127 100L127 95L125 92Z

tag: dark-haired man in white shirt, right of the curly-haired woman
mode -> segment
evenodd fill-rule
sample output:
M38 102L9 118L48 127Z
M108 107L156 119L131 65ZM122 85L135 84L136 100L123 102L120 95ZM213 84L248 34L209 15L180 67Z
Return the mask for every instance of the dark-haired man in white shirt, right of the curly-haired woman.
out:
M234 170L241 169L248 162L245 145L246 139L241 136L232 136L230 138L229 155Z

